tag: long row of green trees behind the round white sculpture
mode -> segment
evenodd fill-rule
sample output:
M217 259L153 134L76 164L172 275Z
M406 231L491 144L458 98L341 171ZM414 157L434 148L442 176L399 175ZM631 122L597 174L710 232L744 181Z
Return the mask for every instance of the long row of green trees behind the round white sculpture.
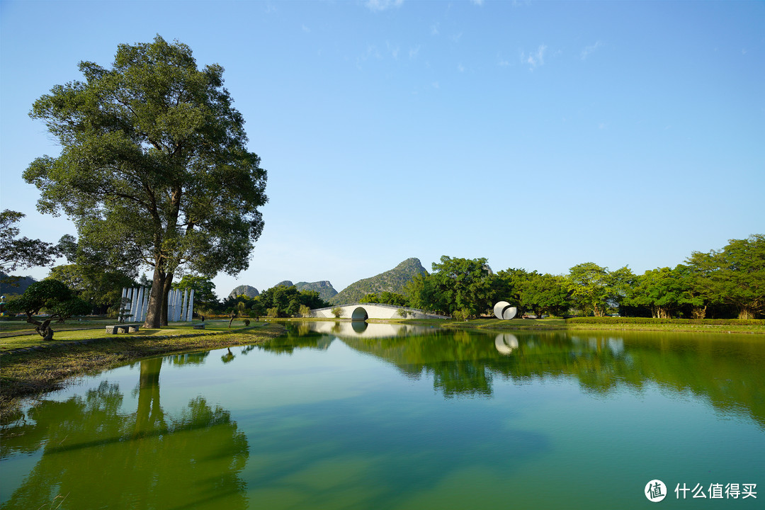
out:
M765 313L765 236L732 239L721 250L693 252L685 264L633 274L594 262L568 274L509 268L494 274L486 258L441 257L431 274L405 287L403 303L454 317L490 314L505 300L522 313L602 317L739 317ZM369 302L389 302L368 294Z

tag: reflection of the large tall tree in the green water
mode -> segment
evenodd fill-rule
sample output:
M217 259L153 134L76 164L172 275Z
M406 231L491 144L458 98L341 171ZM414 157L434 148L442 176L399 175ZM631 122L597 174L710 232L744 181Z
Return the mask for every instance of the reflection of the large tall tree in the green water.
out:
M246 436L202 397L176 416L160 404L161 359L141 362L135 413L118 385L42 401L4 430L2 454L44 453L4 508L246 508ZM58 496L58 498L57 498ZM62 502L63 498L63 502Z

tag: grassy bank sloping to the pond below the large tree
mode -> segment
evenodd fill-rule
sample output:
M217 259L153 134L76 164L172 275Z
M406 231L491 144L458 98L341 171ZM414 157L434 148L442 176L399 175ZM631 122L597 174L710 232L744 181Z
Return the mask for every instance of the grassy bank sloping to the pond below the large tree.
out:
M261 343L284 334L285 328L269 322L231 331L189 333L188 330L168 330L168 333L112 335L3 352L0 355L0 419L5 423L15 414L21 398L54 391L80 375L151 356Z

